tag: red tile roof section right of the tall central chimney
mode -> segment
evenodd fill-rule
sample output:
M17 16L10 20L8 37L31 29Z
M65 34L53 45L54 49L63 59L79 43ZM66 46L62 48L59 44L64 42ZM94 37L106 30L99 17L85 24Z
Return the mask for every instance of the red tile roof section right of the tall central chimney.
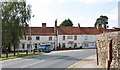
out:
M99 34L95 27L59 27L59 34Z

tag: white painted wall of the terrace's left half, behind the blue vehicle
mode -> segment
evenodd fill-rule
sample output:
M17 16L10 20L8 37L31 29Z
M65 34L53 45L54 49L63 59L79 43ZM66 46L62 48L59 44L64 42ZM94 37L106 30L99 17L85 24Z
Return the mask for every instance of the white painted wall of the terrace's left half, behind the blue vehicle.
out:
M39 37L39 40L36 40L36 37ZM49 37L52 37L52 40L49 41ZM35 44L37 44L37 46L39 46L39 44L42 43L52 43L51 46L52 48L54 47L54 36L38 36L38 35L33 35L32 36L32 40L29 41L28 40L28 36L26 36L26 40L20 40L20 50L27 50L27 44L32 45L32 48L30 49L34 49L35 48ZM22 49L22 44L25 44L25 49Z

